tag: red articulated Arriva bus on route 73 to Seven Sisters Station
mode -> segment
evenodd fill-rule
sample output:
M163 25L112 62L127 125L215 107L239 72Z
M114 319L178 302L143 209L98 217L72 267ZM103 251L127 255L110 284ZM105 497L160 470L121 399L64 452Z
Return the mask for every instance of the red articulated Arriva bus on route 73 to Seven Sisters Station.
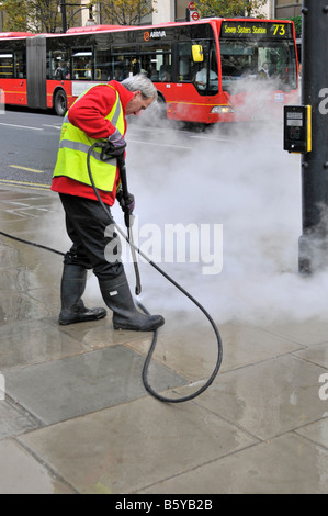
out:
M1 100L64 115L94 83L146 74L166 116L199 123L270 116L295 103L293 22L204 19L0 34Z

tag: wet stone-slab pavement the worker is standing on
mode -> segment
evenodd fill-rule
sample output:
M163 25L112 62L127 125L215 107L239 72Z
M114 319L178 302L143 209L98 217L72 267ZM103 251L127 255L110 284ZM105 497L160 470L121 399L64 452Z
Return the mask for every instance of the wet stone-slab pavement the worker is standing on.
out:
M1 184L0 231L69 244L42 186ZM1 494L328 492L328 321L218 323L213 384L161 403L142 382L151 335L113 330L110 313L59 326L61 256L4 236L0 254ZM92 278L84 301L103 306ZM196 317L163 311L149 379L179 397L211 374L215 343Z

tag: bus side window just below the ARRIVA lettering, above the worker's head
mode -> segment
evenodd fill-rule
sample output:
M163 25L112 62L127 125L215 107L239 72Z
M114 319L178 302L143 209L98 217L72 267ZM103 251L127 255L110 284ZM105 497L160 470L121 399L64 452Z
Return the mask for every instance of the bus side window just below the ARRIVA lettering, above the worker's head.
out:
M142 45L140 57L142 71L150 80L155 82L170 82L172 80L171 45Z

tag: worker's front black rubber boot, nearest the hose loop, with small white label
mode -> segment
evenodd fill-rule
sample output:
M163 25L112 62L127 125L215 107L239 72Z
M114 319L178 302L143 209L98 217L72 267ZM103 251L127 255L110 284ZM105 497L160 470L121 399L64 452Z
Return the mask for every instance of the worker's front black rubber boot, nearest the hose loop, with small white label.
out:
M165 324L161 315L147 315L137 310L124 271L114 280L99 280L99 284L105 304L113 311L115 329L154 332Z

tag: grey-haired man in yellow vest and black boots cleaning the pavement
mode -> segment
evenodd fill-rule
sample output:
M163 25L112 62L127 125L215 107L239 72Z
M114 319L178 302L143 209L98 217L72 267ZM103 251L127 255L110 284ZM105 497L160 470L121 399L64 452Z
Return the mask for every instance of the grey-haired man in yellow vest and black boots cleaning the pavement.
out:
M110 142L118 154L125 148L126 115L138 114L157 99L157 90L144 75L97 85L80 96L69 109L61 127L52 190L59 193L66 228L72 247L65 255L61 278L59 324L101 319L104 309L87 309L82 295L87 270L92 269L108 307L113 312L115 329L151 332L165 324L161 315L138 311L120 256L106 260L105 248L117 235L108 236L109 218L92 188L87 155L93 143ZM98 152L99 150L99 152ZM124 150L123 150L124 152ZM93 181L106 206L120 201L120 171L116 159L101 160L94 148L90 158ZM134 197L127 200L134 209Z

